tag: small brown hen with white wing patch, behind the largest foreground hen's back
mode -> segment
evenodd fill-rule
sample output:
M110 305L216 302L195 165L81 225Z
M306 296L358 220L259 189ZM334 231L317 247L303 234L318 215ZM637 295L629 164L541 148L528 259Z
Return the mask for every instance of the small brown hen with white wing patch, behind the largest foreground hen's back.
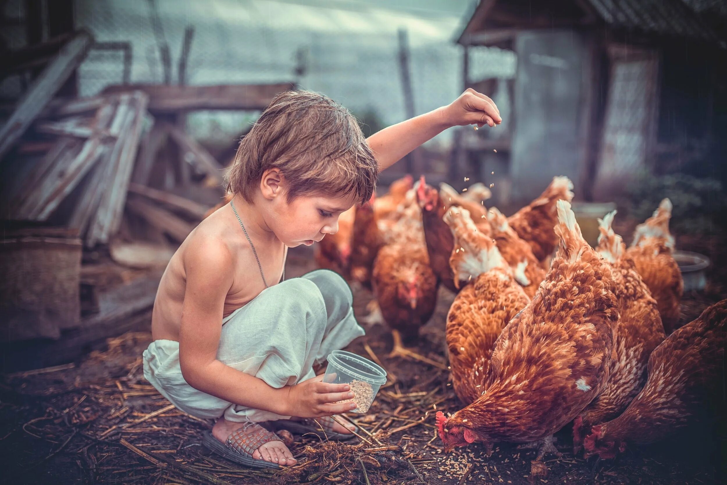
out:
M502 212L491 208L487 213L487 220L497 249L513 269L515 280L522 285L526 295L533 298L540 283L545 280L545 269L540 266L530 245L510 227Z

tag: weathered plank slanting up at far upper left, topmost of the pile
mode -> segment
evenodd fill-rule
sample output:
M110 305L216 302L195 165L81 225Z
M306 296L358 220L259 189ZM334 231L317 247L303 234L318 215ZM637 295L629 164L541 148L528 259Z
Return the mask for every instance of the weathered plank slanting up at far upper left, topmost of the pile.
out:
M15 111L0 128L0 158L23 136L28 126L76 70L92 41L91 34L84 30L76 34L25 91Z

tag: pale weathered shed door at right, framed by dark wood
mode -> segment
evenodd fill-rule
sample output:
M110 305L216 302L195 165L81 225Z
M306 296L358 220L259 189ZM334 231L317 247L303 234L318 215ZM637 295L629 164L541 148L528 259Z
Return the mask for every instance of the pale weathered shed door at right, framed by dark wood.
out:
M611 78L594 185L597 200L613 200L646 168L659 99L655 51L611 46L608 57Z

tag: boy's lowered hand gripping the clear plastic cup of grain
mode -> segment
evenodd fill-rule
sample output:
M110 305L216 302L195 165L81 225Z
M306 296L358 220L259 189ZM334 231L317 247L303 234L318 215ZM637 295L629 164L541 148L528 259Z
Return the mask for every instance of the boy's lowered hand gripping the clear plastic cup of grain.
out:
M353 398L348 384L324 383L323 378L323 374L316 375L288 388L289 416L332 416L356 409L352 402L339 402Z

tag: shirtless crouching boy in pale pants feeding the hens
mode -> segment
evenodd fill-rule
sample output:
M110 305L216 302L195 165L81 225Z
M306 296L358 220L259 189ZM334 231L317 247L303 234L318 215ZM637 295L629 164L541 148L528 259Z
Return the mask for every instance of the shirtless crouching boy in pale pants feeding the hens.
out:
M491 99L467 89L366 140L348 110L321 94L273 99L240 143L228 174L232 200L169 261L144 351L144 375L166 399L216 420L207 447L279 468L296 460L275 428L315 432L320 423L329 439L353 436L332 418L356 407L341 402L353 396L349 386L313 371L364 335L353 296L326 270L285 280L287 248L335 234L338 216L369 200L379 170L444 129L501 121Z

